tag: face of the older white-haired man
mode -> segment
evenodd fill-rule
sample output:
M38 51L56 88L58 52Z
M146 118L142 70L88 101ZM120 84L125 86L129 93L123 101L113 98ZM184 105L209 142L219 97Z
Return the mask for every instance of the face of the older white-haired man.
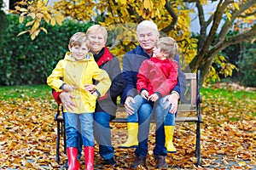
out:
M159 39L159 31L148 26L140 27L137 30L137 39L143 49L146 51L152 50Z

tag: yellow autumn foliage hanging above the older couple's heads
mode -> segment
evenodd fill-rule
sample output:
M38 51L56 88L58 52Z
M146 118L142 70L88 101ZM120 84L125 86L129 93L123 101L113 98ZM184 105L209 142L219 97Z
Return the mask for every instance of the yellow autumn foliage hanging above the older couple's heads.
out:
M97 14L104 13L106 18L99 23L102 26L108 27L108 31L116 30L120 27L123 29L119 33L116 40L122 42L118 47L112 49L113 54L120 56L125 54L127 50L135 48L137 45L137 35L135 27L133 31L125 31L125 24L133 23L137 25L138 22L143 20L154 20L158 25L159 30L162 30L173 21L171 14L166 10L166 0L103 0L101 3L96 3L93 0L59 0L54 3L53 8L44 0L32 1L30 4L28 0L22 1L26 4L27 8L21 8L21 3L15 7L16 11L26 13L29 20L27 24L27 31L34 39L40 31L47 32L44 28L42 21L55 26L61 25L65 17L70 17L73 20L89 21L95 18ZM190 37L190 17L191 9L185 8L182 1L167 2L172 3L172 9L177 14L177 24L168 32L161 32L163 36L174 37L177 40L180 54L183 55L183 63L189 63L196 55L197 40ZM201 1L207 3L207 1ZM97 10L96 10L97 9ZM24 14L22 17L24 18ZM24 22L20 15L20 22ZM33 22L32 22L33 21ZM117 27L116 24L123 26Z

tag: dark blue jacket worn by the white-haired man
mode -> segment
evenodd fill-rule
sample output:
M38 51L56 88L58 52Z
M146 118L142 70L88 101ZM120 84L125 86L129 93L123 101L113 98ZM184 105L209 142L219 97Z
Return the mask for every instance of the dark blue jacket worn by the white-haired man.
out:
M150 56L140 45L125 54L123 58L123 75L125 78L125 89L121 95L122 103L125 103L125 99L127 96L135 97L137 95L137 73L143 63L143 60L149 58ZM175 57L175 60L179 62L178 55ZM180 95L180 98L182 98L183 94L185 93L186 77L183 74L183 71L181 71L180 67L178 69L177 85L172 90L176 91Z

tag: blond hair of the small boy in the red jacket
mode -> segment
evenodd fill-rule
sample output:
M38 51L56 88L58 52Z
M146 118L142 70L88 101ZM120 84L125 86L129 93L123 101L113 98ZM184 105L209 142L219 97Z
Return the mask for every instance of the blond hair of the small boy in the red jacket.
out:
M161 37L156 42L156 47L160 48L161 52L169 54L168 59L173 59L178 51L177 42L172 37Z

